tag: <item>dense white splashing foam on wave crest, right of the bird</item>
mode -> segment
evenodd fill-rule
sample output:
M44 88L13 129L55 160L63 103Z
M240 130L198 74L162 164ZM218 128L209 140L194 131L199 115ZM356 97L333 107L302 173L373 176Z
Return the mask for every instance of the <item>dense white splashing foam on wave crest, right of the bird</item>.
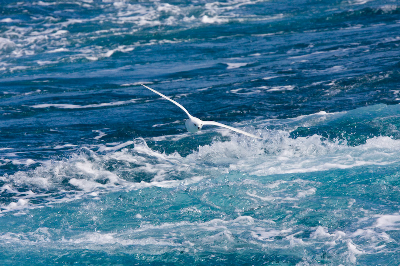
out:
M264 133L265 138L268 139L266 146L257 142L250 147L242 147L243 143L238 139L205 145L199 148L197 156L212 158L215 151L218 151L217 154L229 154L229 157L232 156L229 171L239 170L258 176L387 165L400 160L389 155L400 145L399 141L389 137L371 138L366 144L356 147L322 141L318 135L291 139L289 133L283 131L271 132L269 136ZM265 155L262 155L262 149L266 151ZM217 158L214 160L218 161Z

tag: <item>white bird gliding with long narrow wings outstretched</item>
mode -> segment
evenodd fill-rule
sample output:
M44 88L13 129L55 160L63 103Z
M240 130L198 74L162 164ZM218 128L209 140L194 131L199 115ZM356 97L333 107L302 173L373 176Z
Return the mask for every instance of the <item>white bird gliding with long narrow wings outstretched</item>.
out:
M214 125L214 126L220 126L220 127L224 127L224 128L233 130L235 132L244 134L244 135L252 137L252 138L262 139L261 137L255 136L255 135L250 134L248 132L245 132L243 130L240 130L240 129L237 129L237 128L234 128L234 127L230 127L230 126L227 126L227 125L215 122L215 121L203 121L203 120L201 120L201 119L199 119L197 117L194 117L191 114L189 114L189 112L186 110L186 108L184 108L182 105L180 105L179 103L175 102L171 98L165 96L164 94L162 94L162 93L160 93L160 92L158 92L158 91L156 91L156 90L154 90L154 89L152 89L150 87L147 87L146 85L143 85L143 84L140 84L140 85L146 87L147 89L151 90L152 92L157 93L159 96L161 96L161 97L167 99L168 101L171 101L174 104L176 104L177 106L179 106L180 109L182 109L189 116L189 119L186 120L186 129L187 129L187 131L189 131L191 133L195 133L197 131L200 131L201 128L204 125Z

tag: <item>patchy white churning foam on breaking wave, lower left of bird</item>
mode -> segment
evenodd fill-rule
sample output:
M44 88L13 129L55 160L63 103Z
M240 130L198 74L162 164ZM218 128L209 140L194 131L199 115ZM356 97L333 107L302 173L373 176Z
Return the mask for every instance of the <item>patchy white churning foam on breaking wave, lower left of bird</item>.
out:
M165 167L172 168L172 171L185 171L187 165L179 165L176 158L182 158L180 156L172 155L166 156L165 154L159 154L151 151L147 145L143 145L144 140L135 140L137 143L133 149L134 154L131 154L127 149L116 152L123 147L133 144L134 142L125 142L116 146L106 146L101 150L107 150L109 154L97 155L93 151L84 148L82 154L72 154L70 159L64 159L61 161L49 161L42 166L38 166L30 171L19 171L13 175L4 175L1 180L6 182L7 185L1 187L1 191L7 193L14 193L18 197L36 198L40 197L44 201L42 204L36 205L17 205L20 208L39 208L43 205L67 202L71 200L81 199L84 197L90 197L91 199L99 199L98 191L113 191L113 190L138 190L151 187L160 188L174 188L178 186L187 186L193 183L197 183L202 180L203 177L193 175L183 180L164 180L162 177L155 176L151 182L132 182L122 179L118 172L111 172L103 167L103 163L109 160L120 160L122 162L134 162L141 165L149 165L146 162L145 156L155 156L159 162L152 167L139 167L132 169L134 171L145 170L149 173L156 171L164 171ZM145 142L144 142L145 143ZM89 159L91 158L91 159ZM151 159L149 160L151 161ZM178 166L177 168L173 167ZM158 169L158 170L157 170ZM65 180L75 189L68 189L63 191ZM40 190L56 190L54 195L52 193L34 193L32 191L19 192L16 187L29 186L32 189L40 188ZM62 192L62 196L59 193ZM94 197L94 198L93 198ZM22 202L20 202L22 203ZM15 209L15 204L10 206L2 206L4 209L2 213L12 211Z

